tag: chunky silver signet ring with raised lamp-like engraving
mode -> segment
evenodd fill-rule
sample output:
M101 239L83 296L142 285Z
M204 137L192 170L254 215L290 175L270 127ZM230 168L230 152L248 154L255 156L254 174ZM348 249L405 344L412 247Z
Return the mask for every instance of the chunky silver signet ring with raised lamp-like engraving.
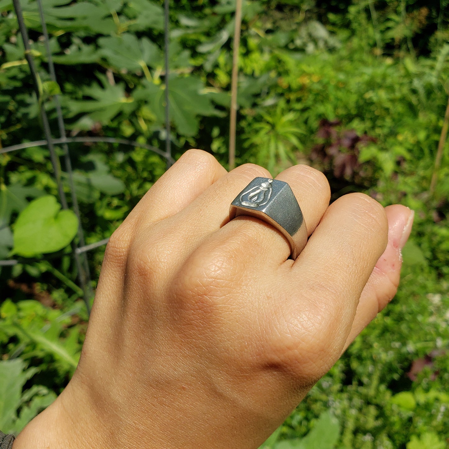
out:
M290 185L276 179L254 178L231 202L229 220L247 215L264 220L290 243L295 260L307 243L307 227Z

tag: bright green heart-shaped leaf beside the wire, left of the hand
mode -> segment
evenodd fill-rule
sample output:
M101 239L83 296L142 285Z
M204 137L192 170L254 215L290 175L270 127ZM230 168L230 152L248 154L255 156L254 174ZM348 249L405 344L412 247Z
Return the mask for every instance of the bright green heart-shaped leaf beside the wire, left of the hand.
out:
M51 195L30 202L14 224L12 254L33 257L66 247L76 235L78 219L74 212L60 209Z

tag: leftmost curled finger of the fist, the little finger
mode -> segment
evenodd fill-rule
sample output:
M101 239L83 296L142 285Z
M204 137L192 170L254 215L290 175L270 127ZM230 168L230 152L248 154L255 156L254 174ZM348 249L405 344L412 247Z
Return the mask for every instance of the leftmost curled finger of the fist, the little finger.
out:
M188 150L148 190L130 220L149 224L173 216L226 173L212 154Z

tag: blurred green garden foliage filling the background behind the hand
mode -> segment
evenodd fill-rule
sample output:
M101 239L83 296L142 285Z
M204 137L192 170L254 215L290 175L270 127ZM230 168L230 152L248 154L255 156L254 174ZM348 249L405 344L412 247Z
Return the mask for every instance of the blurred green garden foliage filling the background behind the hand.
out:
M38 2L20 3L25 51L0 0L0 429L15 433L75 370L104 253L86 245L167 167L163 1L42 3L48 40ZM169 6L172 155L201 148L229 168L235 0ZM243 2L236 164L305 163L332 200L415 210L396 298L265 448L449 447L448 19L449 0ZM27 145L45 117L60 137L58 107L84 141Z

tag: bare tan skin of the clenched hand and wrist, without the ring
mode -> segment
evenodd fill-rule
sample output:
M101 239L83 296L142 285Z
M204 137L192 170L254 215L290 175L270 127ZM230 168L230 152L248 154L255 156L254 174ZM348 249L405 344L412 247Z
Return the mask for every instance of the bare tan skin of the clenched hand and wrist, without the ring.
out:
M186 152L106 248L79 366L24 448L257 448L396 294L413 211L290 184L307 246L230 202L262 167Z

